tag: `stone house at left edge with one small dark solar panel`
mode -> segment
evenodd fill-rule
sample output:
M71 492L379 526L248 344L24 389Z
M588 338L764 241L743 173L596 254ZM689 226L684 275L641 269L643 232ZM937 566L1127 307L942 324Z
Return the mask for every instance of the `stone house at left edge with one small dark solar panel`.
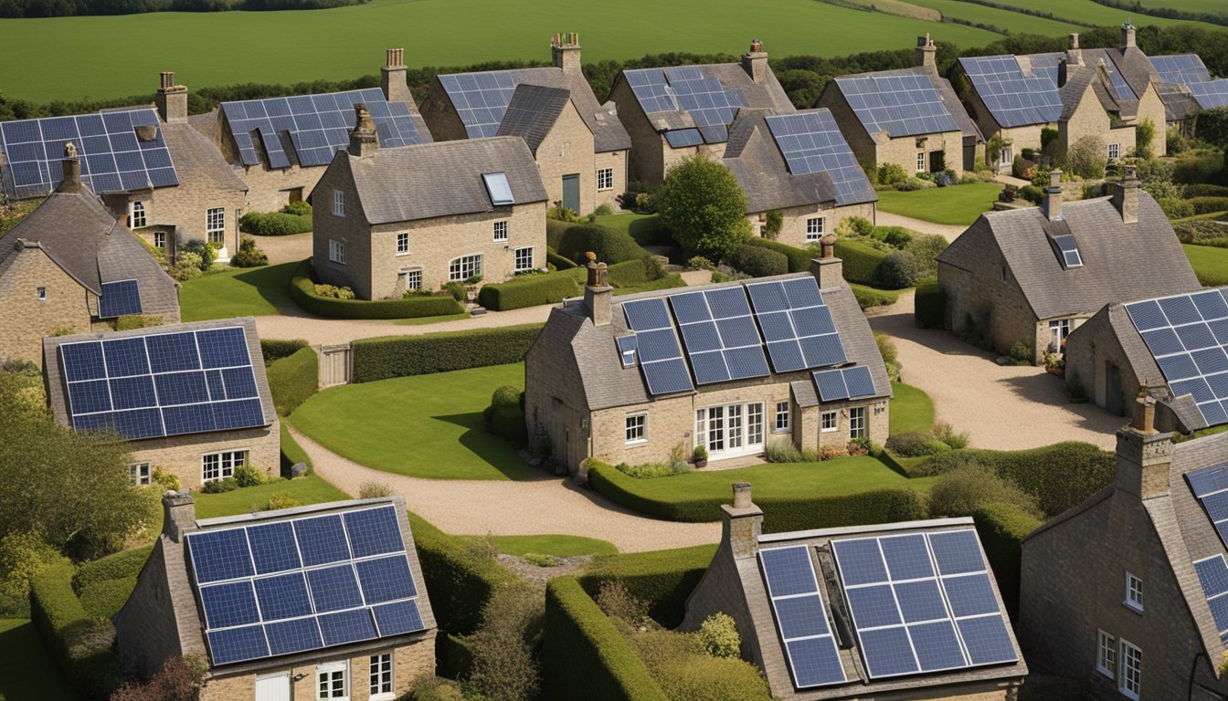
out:
M0 237L0 357L39 362L42 338L114 328L120 316L179 320L176 282L81 183L81 160Z

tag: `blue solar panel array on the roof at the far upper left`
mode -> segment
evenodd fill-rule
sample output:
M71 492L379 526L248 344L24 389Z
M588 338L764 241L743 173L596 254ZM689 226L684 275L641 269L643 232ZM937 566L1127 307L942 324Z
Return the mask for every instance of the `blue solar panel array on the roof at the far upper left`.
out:
M152 139L138 137L142 126L152 126ZM33 198L59 187L69 142L81 161L81 182L95 194L179 184L157 113L129 109L0 123L5 194Z

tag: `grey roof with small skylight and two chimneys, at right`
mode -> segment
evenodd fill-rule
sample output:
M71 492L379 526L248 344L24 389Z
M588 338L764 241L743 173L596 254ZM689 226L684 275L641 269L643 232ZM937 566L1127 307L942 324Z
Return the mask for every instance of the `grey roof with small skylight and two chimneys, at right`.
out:
M1065 270L1054 254L1049 236L1065 233L1074 237L1082 268ZM1113 302L1201 289L1168 217L1142 190L1137 223L1122 223L1111 198L1063 203L1059 221L1045 219L1040 207L982 214L938 261L975 273L995 247L1038 319L1090 316ZM997 271L985 276L996 279Z

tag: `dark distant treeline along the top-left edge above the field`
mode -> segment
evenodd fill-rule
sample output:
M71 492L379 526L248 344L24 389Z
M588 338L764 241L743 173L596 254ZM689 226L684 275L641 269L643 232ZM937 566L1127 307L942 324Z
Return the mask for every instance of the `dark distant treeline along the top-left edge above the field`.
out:
M0 17L69 17L141 12L225 12L227 10L321 10L368 0L0 0Z

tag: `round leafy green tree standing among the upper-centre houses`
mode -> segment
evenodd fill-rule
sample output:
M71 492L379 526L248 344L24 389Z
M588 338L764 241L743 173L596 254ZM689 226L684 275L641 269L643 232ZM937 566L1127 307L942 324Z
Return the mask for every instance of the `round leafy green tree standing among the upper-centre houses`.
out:
M688 255L722 259L750 237L747 195L722 163L698 153L673 166L653 198Z

